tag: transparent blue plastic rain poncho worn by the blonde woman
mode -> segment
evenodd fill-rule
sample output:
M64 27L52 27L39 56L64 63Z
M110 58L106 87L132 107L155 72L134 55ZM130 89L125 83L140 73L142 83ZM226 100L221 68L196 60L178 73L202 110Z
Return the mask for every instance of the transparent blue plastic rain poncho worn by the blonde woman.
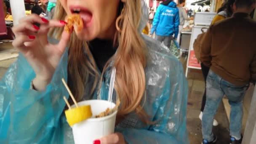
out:
M142 4L146 9L145 3ZM144 26L142 21L140 32ZM115 131L123 133L129 144L188 144L188 84L183 67L168 48L150 37L143 37L150 59L145 69L144 109L150 119L158 123L145 125L131 113ZM74 144L72 129L63 113L66 105L63 96L68 93L61 78L67 80L67 51L45 91L31 90L34 77L35 72L20 54L0 81L0 144ZM107 100L103 96L107 96L109 89L108 71L105 78L101 93L93 99Z

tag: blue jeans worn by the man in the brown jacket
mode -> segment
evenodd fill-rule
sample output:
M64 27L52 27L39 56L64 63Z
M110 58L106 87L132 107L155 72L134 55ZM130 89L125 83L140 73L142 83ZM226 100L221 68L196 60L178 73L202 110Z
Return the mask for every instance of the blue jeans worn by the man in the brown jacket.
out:
M231 106L229 131L230 136L241 137L243 120L243 98L249 84L237 86L223 80L211 69L206 80L206 104L203 111L202 133L203 139L213 141L213 118L224 95Z

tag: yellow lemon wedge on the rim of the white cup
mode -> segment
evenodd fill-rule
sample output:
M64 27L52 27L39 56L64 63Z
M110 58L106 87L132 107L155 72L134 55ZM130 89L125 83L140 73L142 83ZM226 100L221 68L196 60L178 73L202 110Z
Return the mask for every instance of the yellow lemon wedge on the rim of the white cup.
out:
M85 105L81 107L75 107L65 111L67 117L67 123L70 126L80 123L90 117L92 117L91 105Z

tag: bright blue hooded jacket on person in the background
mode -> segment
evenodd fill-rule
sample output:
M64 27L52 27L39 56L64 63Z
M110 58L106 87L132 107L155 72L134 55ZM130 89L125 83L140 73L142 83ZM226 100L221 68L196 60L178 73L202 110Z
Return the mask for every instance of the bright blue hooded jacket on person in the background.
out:
M171 2L169 5L159 5L153 20L151 34L170 36L175 34L178 37L179 33L179 9L176 3Z

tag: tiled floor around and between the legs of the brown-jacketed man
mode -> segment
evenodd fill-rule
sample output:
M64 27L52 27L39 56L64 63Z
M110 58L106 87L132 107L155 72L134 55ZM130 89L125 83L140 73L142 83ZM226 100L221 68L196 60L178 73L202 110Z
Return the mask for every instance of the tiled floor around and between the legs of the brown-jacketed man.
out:
M186 67L186 60L181 58L181 62ZM202 141L202 132L201 132L201 121L198 118L200 114L201 101L204 92L204 80L201 70L189 69L188 74L189 82L189 99L187 105L187 128L189 131L189 140L190 144L201 144ZM245 124L247 122L247 117L249 113L249 108L251 105L251 98L253 94L254 87L251 87L244 99L244 115L243 115L243 130L245 130ZM226 107L226 109L224 108ZM221 102L218 112L215 119L219 122L219 125L213 127L213 133L218 137L216 144L227 144L229 141L229 109L230 106L226 99L224 103Z

